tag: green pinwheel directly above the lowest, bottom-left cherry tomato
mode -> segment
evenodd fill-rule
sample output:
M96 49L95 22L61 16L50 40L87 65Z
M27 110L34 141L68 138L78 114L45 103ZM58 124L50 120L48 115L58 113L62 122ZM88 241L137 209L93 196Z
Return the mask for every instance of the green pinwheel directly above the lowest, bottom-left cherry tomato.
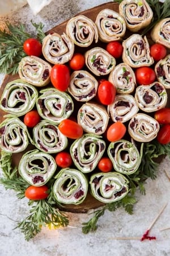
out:
M19 162L19 174L29 184L40 187L54 175L57 164L52 155L39 150L27 151Z

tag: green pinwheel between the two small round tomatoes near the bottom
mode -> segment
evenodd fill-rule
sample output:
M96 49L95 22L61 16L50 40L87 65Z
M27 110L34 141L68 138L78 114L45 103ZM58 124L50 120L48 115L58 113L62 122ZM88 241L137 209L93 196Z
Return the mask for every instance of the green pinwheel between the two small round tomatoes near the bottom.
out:
M93 171L105 151L105 142L100 136L84 134L71 144L70 154L78 170L87 173Z

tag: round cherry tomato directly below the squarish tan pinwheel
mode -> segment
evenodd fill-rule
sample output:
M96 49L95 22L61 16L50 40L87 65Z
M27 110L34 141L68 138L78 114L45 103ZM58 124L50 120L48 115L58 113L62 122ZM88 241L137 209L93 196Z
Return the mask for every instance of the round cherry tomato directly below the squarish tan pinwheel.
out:
M139 85L149 85L156 79L155 71L150 67L137 68L135 70L135 77Z

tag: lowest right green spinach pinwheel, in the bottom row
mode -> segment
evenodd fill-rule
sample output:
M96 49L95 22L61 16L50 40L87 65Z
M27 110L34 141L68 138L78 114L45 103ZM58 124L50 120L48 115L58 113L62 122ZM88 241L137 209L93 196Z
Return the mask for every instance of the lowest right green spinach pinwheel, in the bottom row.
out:
M91 194L102 203L113 203L128 194L128 183L129 180L118 172L99 172L91 176Z

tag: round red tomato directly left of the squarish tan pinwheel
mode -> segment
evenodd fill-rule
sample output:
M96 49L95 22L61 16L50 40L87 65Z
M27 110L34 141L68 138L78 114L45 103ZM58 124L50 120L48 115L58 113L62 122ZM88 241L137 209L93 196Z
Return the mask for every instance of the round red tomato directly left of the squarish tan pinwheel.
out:
M113 41L107 44L106 50L110 53L114 58L120 58L122 56L123 47L122 44L118 41Z

